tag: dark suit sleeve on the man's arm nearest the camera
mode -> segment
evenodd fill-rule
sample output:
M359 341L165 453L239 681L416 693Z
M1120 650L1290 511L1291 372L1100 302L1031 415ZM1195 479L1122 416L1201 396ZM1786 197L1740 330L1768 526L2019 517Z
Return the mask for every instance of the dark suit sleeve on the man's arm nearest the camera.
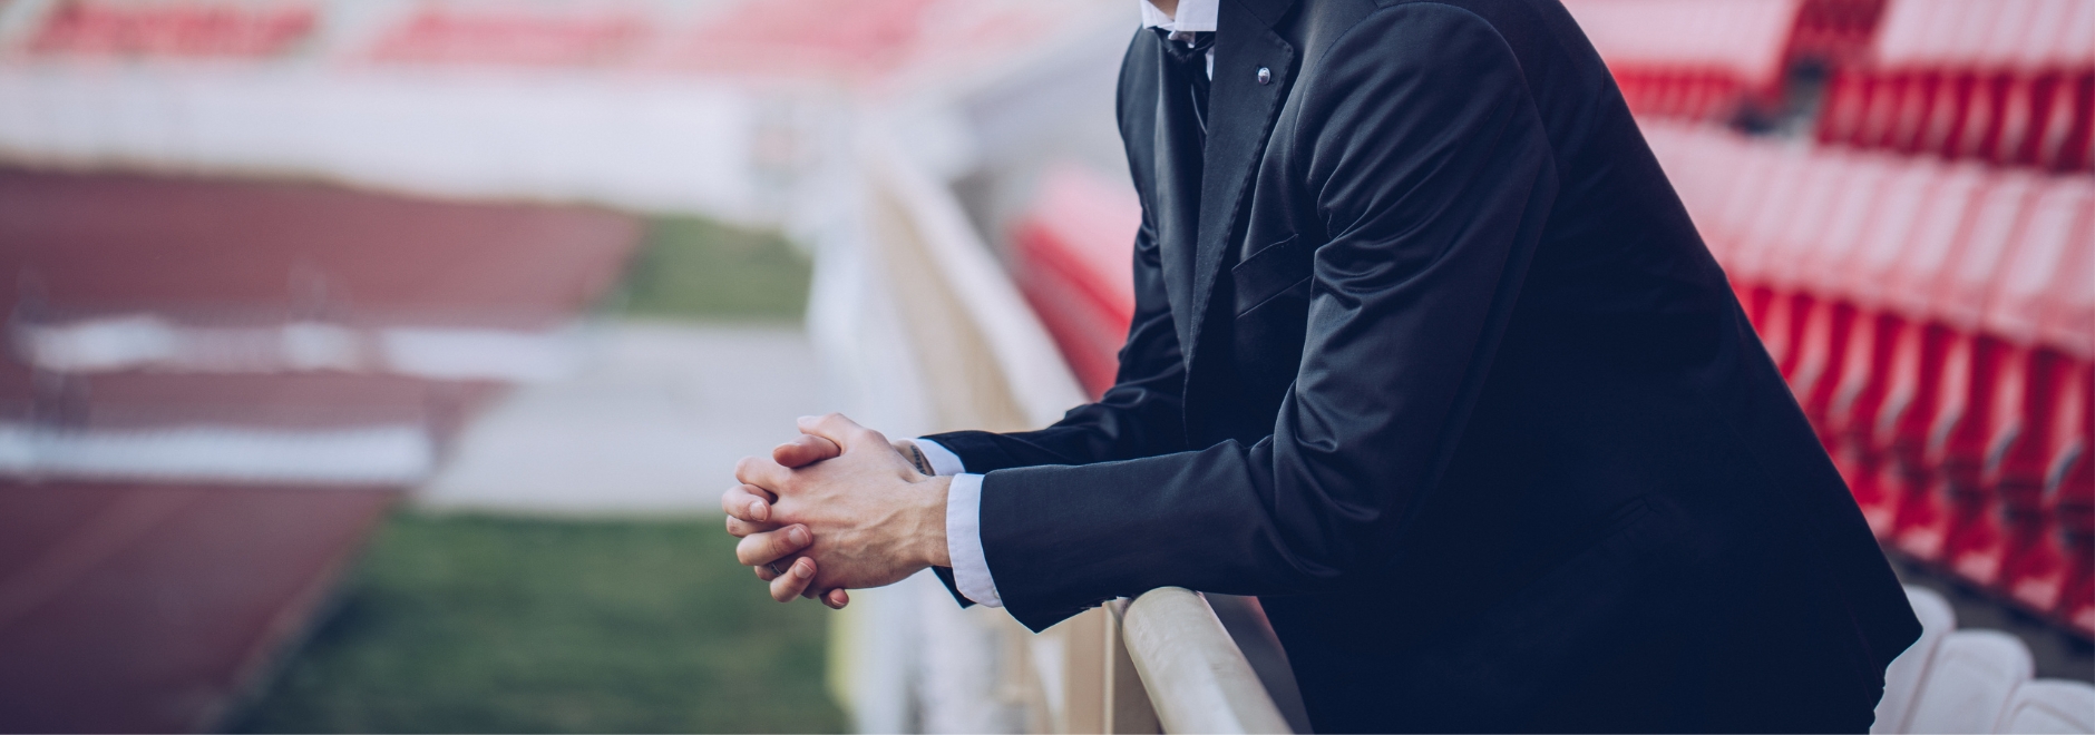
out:
M1272 142L1326 237L1272 436L991 471L983 549L1022 624L1167 584L1339 588L1389 563L1439 480L1554 201L1552 151L1513 50L1467 10L1379 10L1320 65Z

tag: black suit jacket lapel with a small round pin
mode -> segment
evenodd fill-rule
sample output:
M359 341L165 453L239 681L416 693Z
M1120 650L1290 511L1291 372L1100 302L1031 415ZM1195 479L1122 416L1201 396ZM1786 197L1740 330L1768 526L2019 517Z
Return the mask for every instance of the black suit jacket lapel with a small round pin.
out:
M1265 151L1274 115L1295 69L1295 46L1272 23L1291 2L1223 0L1215 21L1215 80L1207 101L1207 151L1200 168L1200 209L1192 264L1192 322L1179 325L1186 364L1194 364L1215 279L1242 218L1244 186ZM1259 84L1259 69L1267 82ZM1177 207L1173 207L1177 209ZM1186 302L1175 302L1186 304Z

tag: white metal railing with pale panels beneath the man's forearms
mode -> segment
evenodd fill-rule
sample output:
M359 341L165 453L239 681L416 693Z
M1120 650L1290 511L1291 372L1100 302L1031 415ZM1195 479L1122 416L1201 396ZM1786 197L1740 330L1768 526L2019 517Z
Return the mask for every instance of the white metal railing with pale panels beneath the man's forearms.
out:
M834 287L836 299L817 308L811 325L817 343L844 371L880 373L874 389L890 400L913 396L916 406L890 417L886 429L941 431L960 427L1022 429L1045 425L1083 400L1048 331L1027 308L989 247L962 214L939 176L899 149L892 136L865 136L857 144L857 216L846 253L825 247L823 258L848 258L855 287ZM821 270L823 266L817 266ZM823 295L817 276L817 302ZM830 337L823 337L830 335ZM886 335L884 339L869 339ZM899 343L895 343L899 341ZM918 580L922 582L922 580ZM846 683L855 708L920 712L916 727L934 722L968 729L1020 729L1035 733L1286 733L1288 725L1244 653L1230 639L1207 599L1184 588L1156 588L1133 601L1115 601L1062 622L1041 634L1027 632L1001 611L955 616L943 591L867 591L840 622L834 662L851 662L859 683ZM880 605L895 605L880 611ZM897 614L897 609L909 609ZM869 624L869 620L882 620ZM920 626L899 632L882 626ZM987 632L987 637L985 637ZM895 645L913 639L922 645ZM960 643L955 643L960 641ZM966 643L974 641L974 643ZM1004 641L1004 643L983 643ZM962 655L989 660L968 670L993 683L922 683L909 706L865 701L882 687L880 655L924 655L932 670L951 668ZM926 647L943 647L930 651ZM905 666L907 668L907 666ZM918 670L924 670L922 666ZM890 670L888 676L897 674ZM874 678L874 681L867 681ZM943 687L943 689L939 689ZM955 689L1001 699L1006 716L980 701L957 704ZM911 697L911 693L901 693ZM936 699L936 701L932 701ZM861 727L911 722L859 716Z

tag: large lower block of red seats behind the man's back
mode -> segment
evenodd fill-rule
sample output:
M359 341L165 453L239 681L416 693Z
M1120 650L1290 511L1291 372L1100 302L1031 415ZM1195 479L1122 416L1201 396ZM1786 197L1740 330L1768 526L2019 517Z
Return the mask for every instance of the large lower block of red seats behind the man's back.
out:
M1645 130L1871 528L2095 634L2095 178Z

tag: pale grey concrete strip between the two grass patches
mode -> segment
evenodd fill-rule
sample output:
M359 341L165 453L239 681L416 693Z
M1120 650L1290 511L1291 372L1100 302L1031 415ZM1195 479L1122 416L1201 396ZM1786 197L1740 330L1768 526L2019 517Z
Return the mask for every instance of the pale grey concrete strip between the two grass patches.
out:
M415 503L553 515L719 513L735 461L825 410L796 327L610 322L564 379L478 417Z

